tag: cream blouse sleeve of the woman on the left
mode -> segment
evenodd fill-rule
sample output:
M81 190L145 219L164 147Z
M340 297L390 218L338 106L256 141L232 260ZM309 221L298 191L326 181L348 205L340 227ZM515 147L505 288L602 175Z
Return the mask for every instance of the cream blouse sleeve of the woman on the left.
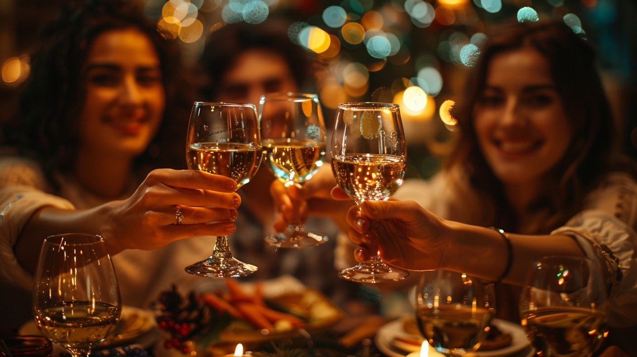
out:
M74 208L69 201L42 191L44 187L44 177L34 163L0 161L0 279L25 289L31 289L32 277L13 252L25 224L43 207Z

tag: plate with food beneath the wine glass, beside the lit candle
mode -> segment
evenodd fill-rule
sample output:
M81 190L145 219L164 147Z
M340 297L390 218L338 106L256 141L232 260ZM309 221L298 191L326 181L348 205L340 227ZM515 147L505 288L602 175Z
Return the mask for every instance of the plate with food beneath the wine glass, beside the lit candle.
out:
M384 324L376 333L376 346L382 353L390 357L404 357L408 353L420 351L422 337L414 317L403 317ZM443 356L429 346L429 356ZM501 356L533 356L526 333L522 326L501 319L493 319L489 335L474 353L465 356L501 357Z

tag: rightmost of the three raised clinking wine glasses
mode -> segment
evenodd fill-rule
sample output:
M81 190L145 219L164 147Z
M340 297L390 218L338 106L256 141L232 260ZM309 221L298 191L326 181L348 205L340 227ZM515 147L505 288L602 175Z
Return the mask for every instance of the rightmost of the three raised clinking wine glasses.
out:
M407 147L399 106L390 103L341 103L332 136L336 183L357 205L387 200L403 183ZM382 227L380 227L382 228ZM405 270L384 263L378 252L338 274L348 281L400 281Z

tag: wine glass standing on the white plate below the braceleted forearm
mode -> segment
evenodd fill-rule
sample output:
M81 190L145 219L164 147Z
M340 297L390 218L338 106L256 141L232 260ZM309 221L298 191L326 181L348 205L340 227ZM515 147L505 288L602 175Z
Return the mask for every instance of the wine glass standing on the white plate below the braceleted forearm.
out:
M445 356L480 346L494 316L492 285L464 273L423 272L416 288L416 322L422 336Z

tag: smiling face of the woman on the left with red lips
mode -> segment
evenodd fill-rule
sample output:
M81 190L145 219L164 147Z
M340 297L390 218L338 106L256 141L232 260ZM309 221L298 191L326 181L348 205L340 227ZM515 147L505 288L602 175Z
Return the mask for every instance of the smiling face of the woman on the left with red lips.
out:
M166 101L152 42L134 28L99 34L82 73L82 154L141 154L159 128Z

